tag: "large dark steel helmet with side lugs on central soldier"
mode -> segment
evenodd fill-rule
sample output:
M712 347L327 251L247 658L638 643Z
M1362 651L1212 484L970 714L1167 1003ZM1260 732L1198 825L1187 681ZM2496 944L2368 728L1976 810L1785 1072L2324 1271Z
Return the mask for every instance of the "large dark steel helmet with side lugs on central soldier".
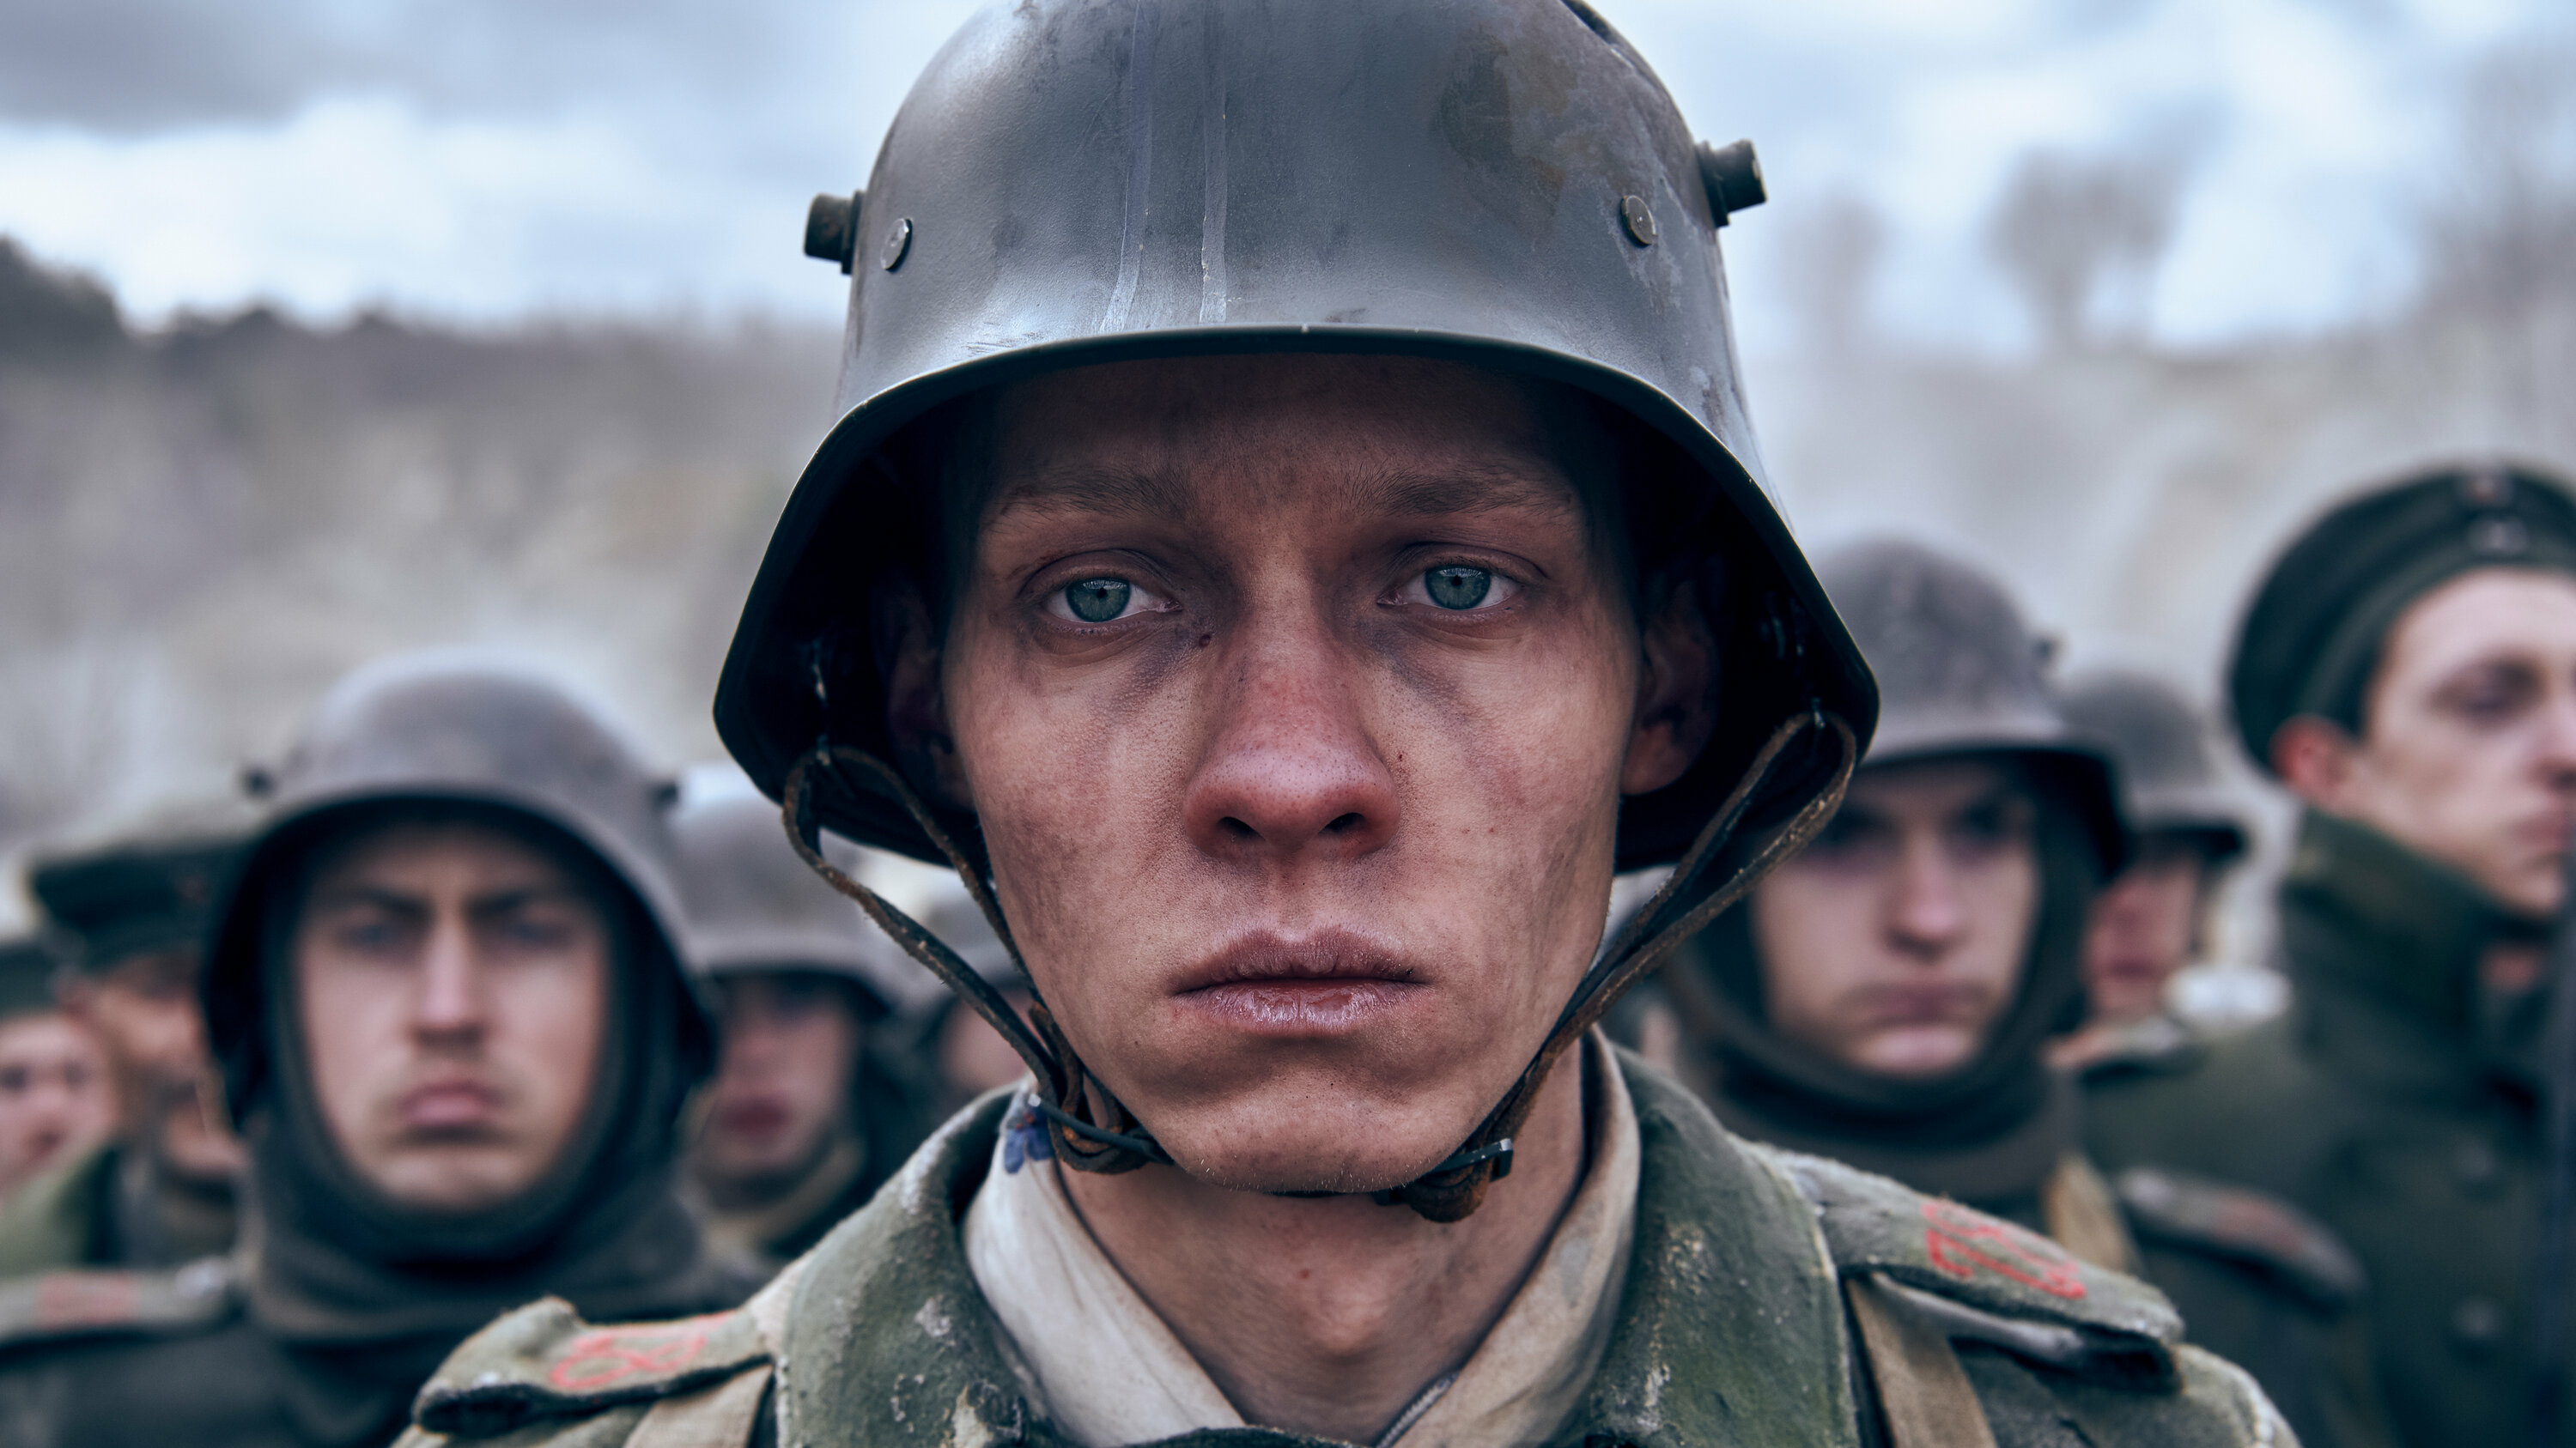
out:
M1636 420L1625 505L1649 564L1726 559L1700 572L1718 734L1620 814L1623 868L1677 858L1785 721L1821 709L1868 739L1873 714L1744 415L1718 227L1759 198L1749 147L1695 147L1584 0L992 5L922 72L868 188L817 204L809 247L853 276L845 415L734 634L726 747L770 796L817 739L894 757L871 590L914 567L920 533L889 520L935 479L886 448L940 402L1121 358L1453 358ZM1829 788L1824 734L1747 824ZM817 809L940 858L884 788ZM981 858L969 814L935 814Z

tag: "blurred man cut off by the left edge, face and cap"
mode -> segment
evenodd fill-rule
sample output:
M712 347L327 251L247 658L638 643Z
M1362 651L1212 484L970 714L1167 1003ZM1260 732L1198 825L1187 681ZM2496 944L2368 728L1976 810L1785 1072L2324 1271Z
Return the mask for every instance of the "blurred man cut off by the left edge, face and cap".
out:
M116 1129L98 1036L62 1013L44 940L0 940L0 1196Z

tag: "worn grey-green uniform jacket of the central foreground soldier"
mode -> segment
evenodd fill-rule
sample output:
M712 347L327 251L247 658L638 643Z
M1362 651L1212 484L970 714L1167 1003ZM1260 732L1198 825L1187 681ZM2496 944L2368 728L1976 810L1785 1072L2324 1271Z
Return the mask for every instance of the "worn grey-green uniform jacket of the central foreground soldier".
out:
M1752 1147L1623 1059L1636 1255L1569 1448L2115 1448L2290 1443L2164 1299L2048 1239L1814 1157ZM587 1327L544 1301L420 1391L407 1448L1064 1448L997 1348L961 1219L1002 1098L933 1136L739 1311ZM1865 1345L1865 1350L1860 1348ZM1190 1448L1324 1448L1273 1430Z

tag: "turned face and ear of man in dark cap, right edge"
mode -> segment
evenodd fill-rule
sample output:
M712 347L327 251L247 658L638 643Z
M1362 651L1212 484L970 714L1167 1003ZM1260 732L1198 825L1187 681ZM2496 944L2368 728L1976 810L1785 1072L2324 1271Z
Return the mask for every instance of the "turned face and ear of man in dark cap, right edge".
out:
M2558 910L2576 819L2576 580L2478 569L2414 600L2362 719L2360 739L2285 727L2275 763L2290 788L2509 910Z

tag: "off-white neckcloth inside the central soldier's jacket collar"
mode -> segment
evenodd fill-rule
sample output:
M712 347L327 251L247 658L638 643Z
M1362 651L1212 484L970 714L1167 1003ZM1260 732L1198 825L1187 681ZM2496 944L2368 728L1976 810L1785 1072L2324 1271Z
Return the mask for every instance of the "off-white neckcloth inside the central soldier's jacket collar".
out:
M1636 1219L1638 1139L1607 1041L1584 1043L1592 1159L1546 1252L1455 1373L1417 1396L1401 1448L1546 1443L1582 1396L1618 1322L1618 1273ZM1244 1427L1190 1350L1136 1296L1064 1193L1046 1136L1015 1108L966 1211L966 1262L1002 1322L1002 1348L1033 1399L1084 1448L1123 1448L1195 1427ZM1394 1425L1391 1425L1394 1427Z

